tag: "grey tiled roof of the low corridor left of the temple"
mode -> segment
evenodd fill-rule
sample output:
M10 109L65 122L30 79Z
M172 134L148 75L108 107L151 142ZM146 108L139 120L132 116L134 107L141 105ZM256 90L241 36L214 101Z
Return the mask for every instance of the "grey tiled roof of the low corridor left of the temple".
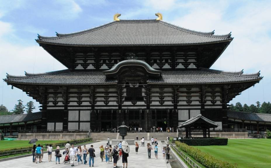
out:
M41 119L41 112L0 116L0 124L27 122Z

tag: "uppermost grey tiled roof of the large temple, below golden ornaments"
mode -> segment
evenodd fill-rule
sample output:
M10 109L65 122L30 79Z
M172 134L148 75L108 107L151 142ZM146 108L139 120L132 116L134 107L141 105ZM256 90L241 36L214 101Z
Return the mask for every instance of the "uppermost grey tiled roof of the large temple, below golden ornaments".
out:
M213 35L185 29L162 20L120 20L56 37L38 36L38 43L83 46L187 45L232 40L231 34Z

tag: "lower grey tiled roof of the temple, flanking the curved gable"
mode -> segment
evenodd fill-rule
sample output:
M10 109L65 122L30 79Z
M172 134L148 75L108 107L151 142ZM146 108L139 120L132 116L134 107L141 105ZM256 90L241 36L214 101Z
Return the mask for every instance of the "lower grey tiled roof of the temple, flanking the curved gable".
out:
M242 74L200 68L199 70L162 71L161 77L150 78L149 84L214 84L259 81L260 73ZM7 83L20 84L117 84L117 79L106 78L102 71L70 71L60 70L40 74L26 73L26 76L7 75Z

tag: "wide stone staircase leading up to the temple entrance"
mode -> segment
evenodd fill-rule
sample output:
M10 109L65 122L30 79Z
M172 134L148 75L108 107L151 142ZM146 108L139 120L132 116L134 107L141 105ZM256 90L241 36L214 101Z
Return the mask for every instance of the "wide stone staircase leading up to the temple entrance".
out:
M90 137L93 139L96 139L97 141L105 141L107 140L107 137L112 139L117 139L118 133L111 133L111 132L92 132ZM144 137L145 140L150 140L152 137L157 138L157 140L165 140L167 136L169 137L177 137L177 132L128 132L127 135L125 136L125 139L136 139L136 136L138 136L138 140L140 141L140 138ZM121 139L122 137L119 136L118 139Z

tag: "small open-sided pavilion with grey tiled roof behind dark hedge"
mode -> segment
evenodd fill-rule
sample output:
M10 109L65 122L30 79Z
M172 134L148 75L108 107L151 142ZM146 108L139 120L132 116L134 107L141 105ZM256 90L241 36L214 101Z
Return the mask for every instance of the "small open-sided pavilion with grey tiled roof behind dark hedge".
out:
M185 128L186 138L191 138L191 135L203 135L204 138L207 138L207 130L208 130L208 138L210 137L210 128L217 128L218 124L214 121L207 119L201 114L192 117L191 119L181 123L179 128ZM195 132L195 130L203 130L203 132ZM193 131L193 133L192 133Z

